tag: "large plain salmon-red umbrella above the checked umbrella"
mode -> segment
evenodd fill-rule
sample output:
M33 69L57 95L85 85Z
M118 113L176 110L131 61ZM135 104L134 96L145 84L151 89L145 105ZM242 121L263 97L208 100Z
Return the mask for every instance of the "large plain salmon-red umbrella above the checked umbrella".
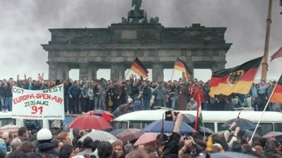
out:
M71 129L113 129L102 117L92 114L82 115L74 119L70 124Z

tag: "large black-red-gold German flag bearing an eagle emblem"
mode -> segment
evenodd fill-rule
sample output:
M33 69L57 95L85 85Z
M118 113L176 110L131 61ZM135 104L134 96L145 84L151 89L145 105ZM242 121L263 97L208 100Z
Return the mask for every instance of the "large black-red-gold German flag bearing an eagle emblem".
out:
M214 72L209 84L209 96L249 93L261 62L262 57L250 60L237 67Z

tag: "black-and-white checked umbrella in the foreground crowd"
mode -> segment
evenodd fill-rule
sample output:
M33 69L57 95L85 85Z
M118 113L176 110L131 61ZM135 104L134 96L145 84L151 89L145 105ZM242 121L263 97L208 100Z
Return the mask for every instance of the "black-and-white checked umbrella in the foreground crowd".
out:
M115 136L111 135L108 132L92 130L92 132L85 134L85 136L82 136L78 141L83 142L83 140L86 137L92 138L93 141L95 140L99 140L99 141L117 140Z

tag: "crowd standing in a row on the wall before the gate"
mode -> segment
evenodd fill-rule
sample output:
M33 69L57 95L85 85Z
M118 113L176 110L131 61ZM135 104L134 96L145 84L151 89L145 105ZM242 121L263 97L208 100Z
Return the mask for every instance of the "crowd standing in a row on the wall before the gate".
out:
M121 105L123 110L150 110L153 107L168 107L173 110L197 110L197 101L202 110L235 110L252 107L255 111L264 109L276 81L260 81L253 84L247 95L233 93L231 96L209 96L209 81L193 79L185 81L148 81L137 79L135 75L126 80L93 79L92 81L37 80L10 78L0 81L1 111L12 110L12 86L28 90L43 90L58 84L64 85L65 112L80 114L89 110L114 112ZM200 96L200 99L199 99ZM197 99L196 99L197 98ZM130 100L130 101L129 101ZM133 102L133 105L128 103ZM126 107L126 108L124 108ZM281 112L281 104L269 103L269 111Z

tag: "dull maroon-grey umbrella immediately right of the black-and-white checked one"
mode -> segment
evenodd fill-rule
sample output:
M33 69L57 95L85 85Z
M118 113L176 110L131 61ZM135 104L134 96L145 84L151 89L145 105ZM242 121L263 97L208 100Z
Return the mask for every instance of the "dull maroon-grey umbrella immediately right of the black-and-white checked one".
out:
M122 140L123 142L128 142L139 138L143 134L144 132L142 132L140 129L126 129L125 131L119 133L116 138Z

